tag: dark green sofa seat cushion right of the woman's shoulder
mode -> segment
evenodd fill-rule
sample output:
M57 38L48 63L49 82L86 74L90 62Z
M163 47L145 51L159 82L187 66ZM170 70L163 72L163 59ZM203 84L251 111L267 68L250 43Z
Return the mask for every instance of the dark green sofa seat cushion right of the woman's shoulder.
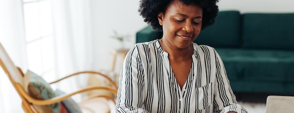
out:
M216 50L230 80L294 82L294 51Z

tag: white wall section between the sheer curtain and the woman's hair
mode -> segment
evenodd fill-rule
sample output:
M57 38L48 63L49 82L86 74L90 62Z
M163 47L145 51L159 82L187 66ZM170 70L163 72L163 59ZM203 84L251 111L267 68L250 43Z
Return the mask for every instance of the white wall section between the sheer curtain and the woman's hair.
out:
M119 35L130 35L125 43L130 48L135 43L135 34L147 24L138 13L139 0L91 0L92 32L95 41L95 69L109 70L110 51L120 47L117 40L110 38L116 30Z

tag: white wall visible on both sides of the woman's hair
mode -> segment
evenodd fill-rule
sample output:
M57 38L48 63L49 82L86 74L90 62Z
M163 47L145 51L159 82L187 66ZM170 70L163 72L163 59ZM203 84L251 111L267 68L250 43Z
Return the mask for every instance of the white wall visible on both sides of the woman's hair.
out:
M223 10L239 10L247 12L293 12L294 0L220 0L219 8ZM95 45L95 69L109 69L111 49L118 47L118 42L110 36L113 30L119 34L129 34L135 43L135 34L147 24L138 13L139 0L91 0L91 15Z

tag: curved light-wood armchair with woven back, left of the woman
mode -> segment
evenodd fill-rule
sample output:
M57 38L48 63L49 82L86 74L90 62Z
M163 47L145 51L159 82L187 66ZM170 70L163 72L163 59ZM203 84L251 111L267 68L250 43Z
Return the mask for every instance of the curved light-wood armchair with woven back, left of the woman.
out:
M76 76L76 75L90 74L90 75L99 75L99 76L106 78L112 86L109 86L109 87L107 87L107 86L88 86L88 87L82 88L80 90L74 91L72 93L62 94L62 95L59 95L59 96L56 96L56 97L53 97L50 99L46 99L46 100L35 99L34 97L31 97L30 94L28 94L25 91L25 86L24 86L24 76L25 75L20 68L18 68L14 65L13 61L8 56L8 54L4 50L1 43L0 43L0 65L3 69L3 71L6 73L6 75L10 79L15 90L17 91L17 93L21 97L22 108L24 109L25 113L40 113L37 109L35 109L35 107L33 105L50 105L50 104L54 104L57 102L61 102L67 98L70 98L72 95L85 93L85 92L89 92L89 91L93 91L93 90L103 90L104 92L105 91L110 92L110 93L114 94L115 96L117 94L118 86L107 75L104 75L102 73L95 72L95 71L83 71L83 72L77 72L77 73L65 76L61 79L50 82L49 84L51 85L51 84L57 83L57 82L62 81L66 78ZM115 96L109 95L109 94L92 95L90 97L86 97L85 99L83 99L81 102L78 103L78 105L81 109L85 109L85 110L82 110L83 112L87 111L90 113L91 112L92 113L101 113L104 111L106 113L109 113L110 108L107 105L107 104L109 104L108 100L112 100L113 103L115 104ZM95 105L94 109L92 109L91 106L89 107L89 104L94 104ZM97 105L102 105L102 106L97 106ZM98 109L98 111L95 111L95 109L96 110Z

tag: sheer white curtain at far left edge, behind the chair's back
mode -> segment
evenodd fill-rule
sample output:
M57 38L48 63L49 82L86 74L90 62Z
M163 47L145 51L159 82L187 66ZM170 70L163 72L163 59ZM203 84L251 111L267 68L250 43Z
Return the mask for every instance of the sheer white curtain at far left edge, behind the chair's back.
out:
M25 69L22 2L20 0L0 0L0 17L0 42L15 65ZM0 113L20 113L21 99L1 68L0 92Z

